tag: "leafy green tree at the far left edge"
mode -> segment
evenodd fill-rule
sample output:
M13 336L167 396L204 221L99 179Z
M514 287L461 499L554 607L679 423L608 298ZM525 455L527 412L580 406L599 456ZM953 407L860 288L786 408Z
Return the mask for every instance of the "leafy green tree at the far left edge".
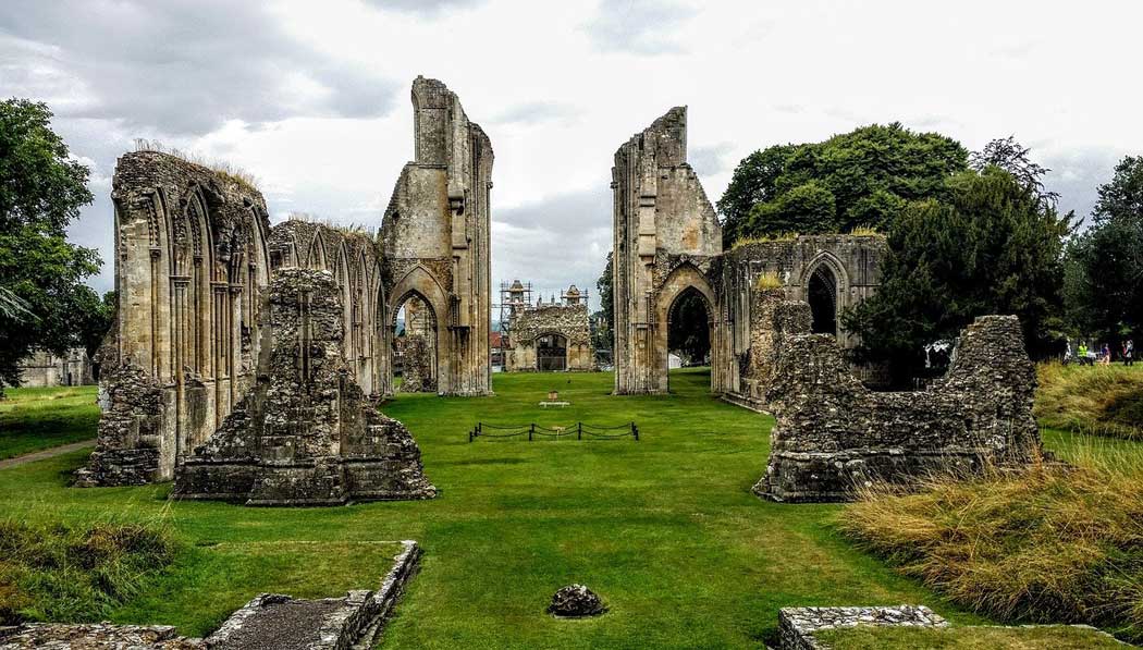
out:
M46 104L0 102L0 290L32 314L0 310L0 382L8 385L18 385L19 362L34 347L63 354L81 345L99 302L82 283L98 271L98 255L65 232L91 202L89 172L50 121Z

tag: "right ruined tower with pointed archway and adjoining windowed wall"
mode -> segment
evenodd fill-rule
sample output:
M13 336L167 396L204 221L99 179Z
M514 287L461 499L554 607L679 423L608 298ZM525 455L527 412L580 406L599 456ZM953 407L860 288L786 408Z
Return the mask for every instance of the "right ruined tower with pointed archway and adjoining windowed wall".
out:
M687 162L687 110L676 107L615 153L615 392L669 391L668 332L681 297L706 307L711 391L761 408L760 360L775 299L806 300L810 328L844 346L857 340L840 315L880 283L885 239L810 235L722 249L713 206ZM762 346L762 347L759 347Z

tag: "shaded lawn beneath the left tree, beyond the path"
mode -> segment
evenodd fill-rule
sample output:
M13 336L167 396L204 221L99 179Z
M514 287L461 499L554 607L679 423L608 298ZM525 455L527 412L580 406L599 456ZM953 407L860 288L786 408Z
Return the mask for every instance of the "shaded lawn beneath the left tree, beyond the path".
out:
M0 400L0 460L95 440L95 386L6 388Z

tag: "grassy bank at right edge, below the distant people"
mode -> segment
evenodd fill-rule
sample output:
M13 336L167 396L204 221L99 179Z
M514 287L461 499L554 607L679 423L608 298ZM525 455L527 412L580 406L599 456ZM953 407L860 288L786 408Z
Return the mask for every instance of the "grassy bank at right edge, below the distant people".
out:
M1143 440L1143 366L1037 369L1034 414L1041 426Z

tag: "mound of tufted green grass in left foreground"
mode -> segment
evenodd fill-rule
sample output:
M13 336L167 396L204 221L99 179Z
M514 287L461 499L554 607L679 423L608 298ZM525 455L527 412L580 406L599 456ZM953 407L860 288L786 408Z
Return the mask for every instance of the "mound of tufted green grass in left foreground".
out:
M0 522L0 625L102 620L174 549L153 527Z

